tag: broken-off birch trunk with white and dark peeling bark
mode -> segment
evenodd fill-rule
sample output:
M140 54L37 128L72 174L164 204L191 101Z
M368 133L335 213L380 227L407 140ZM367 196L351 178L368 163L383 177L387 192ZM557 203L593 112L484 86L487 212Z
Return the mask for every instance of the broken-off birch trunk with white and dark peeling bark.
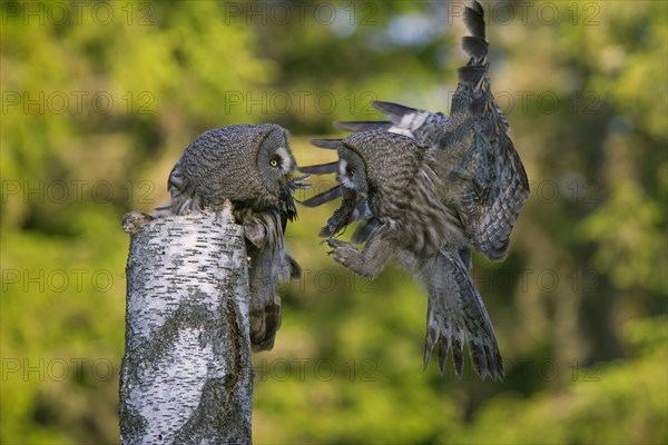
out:
M243 228L230 208L124 217L124 444L250 443L253 365Z

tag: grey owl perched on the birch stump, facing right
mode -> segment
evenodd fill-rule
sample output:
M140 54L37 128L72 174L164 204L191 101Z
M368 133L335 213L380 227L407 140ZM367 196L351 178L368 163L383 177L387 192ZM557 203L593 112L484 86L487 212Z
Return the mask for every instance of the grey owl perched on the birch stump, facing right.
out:
M158 209L181 215L232 201L249 257L254 350L272 349L281 327L278 280L301 276L283 239L287 220L297 214L293 191L303 187L301 179L292 178L295 169L284 128L273 123L216 128L186 148L169 175L171 200Z

